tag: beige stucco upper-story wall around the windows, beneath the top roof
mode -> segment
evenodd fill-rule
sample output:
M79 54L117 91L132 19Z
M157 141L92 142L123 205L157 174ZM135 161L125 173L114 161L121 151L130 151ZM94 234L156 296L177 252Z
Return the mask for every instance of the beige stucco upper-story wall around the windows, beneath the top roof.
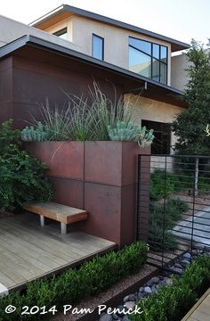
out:
M64 24L63 24L64 23ZM65 25L65 26L64 26ZM63 27L64 26L64 27ZM157 40L138 33L120 29L99 21L92 21L79 17L70 16L46 31L54 33L62 28L68 27L69 40L72 41L82 53L92 55L92 35L104 38L104 61L113 63L128 70L128 37L137 37L143 40L166 45L168 47L168 85L171 84L171 45L165 41Z

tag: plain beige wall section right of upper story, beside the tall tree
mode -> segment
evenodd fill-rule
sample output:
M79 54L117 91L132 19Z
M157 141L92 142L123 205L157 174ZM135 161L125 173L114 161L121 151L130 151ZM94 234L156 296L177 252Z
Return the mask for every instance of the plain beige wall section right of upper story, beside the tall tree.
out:
M188 82L188 74L186 68L188 68L190 63L188 62L188 57L185 53L179 54L172 57L171 59L171 70L172 78L171 85L174 88L183 90Z

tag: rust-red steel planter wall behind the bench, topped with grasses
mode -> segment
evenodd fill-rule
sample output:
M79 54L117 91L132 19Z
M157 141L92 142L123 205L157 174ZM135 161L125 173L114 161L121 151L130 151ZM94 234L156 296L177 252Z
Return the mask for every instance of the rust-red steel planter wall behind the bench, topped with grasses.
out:
M26 148L51 167L55 201L88 210L89 218L77 228L119 246L136 240L138 154L149 154L149 148L126 142L28 143Z

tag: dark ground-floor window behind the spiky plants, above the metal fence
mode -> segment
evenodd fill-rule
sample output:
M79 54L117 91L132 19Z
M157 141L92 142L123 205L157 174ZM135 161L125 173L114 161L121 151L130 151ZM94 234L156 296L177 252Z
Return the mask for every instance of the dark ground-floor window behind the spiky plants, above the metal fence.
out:
M146 126L147 129L154 129L155 138L151 144L151 153L153 155L170 154L171 128L169 124L141 120L141 126Z

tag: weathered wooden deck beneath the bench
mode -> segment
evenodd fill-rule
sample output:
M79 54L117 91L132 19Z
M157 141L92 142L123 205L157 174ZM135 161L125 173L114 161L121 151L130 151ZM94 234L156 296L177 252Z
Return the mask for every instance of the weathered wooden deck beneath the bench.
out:
M10 290L28 281L51 276L96 254L110 251L115 243L82 232L60 234L58 222L39 226L30 213L0 220L0 285Z

